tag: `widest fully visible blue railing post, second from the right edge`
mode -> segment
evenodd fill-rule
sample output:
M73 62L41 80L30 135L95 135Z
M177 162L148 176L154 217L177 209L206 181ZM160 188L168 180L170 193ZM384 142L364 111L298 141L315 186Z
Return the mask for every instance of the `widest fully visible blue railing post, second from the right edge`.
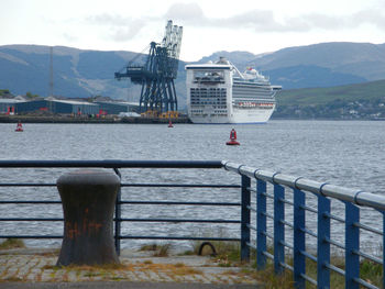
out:
M359 289L360 278L360 209L351 202L345 202L345 288Z

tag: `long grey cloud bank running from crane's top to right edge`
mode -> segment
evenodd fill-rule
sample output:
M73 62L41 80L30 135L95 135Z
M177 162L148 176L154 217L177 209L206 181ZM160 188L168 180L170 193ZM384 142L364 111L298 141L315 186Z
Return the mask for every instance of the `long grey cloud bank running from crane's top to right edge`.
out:
M336 29L355 29L372 24L385 30L385 14L382 10L364 10L349 15L308 13L286 16L278 21L271 10L254 9L229 18L207 18L197 3L175 3L165 14L169 19L180 20L185 24L216 29L252 29L263 32L309 32L311 30L333 31Z

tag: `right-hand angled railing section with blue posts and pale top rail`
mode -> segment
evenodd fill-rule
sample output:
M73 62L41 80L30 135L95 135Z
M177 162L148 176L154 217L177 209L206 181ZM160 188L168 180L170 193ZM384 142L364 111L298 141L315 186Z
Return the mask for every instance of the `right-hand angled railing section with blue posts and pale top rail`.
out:
M249 225L255 232L255 244L249 243L250 232L243 237L248 246L256 251L256 266L262 269L266 266L267 258L274 263L276 274L282 274L285 269L293 271L296 288L306 288L306 282L310 282L317 288L330 288L330 274L334 271L343 276L345 288L377 288L371 280L360 278L360 262L370 260L373 264L382 265L382 288L384 281L384 230L385 230L385 197L361 190L348 189L330 185L328 182L317 182L302 177L294 177L280 173L271 173L255 169L244 165L223 162L226 169L241 175L242 178L242 201L246 201L249 212L242 216L250 220L250 213L255 213L256 226ZM255 189L251 186L251 180L255 180ZM266 188L271 185L272 191ZM256 194L255 208L249 207L250 194ZM287 198L292 194L292 198ZM316 196L316 208L307 205L307 199ZM272 210L267 209L267 200L272 199ZM331 213L332 201L342 202L344 205L344 218ZM242 205L244 205L242 203ZM293 221L286 220L286 207L292 207ZM361 210L370 208L373 212L378 212L380 227L373 227L360 222ZM271 213L273 211L273 213ZM317 232L309 229L306 220L306 212L317 214ZM273 232L267 230L267 220L272 220ZM331 221L340 222L344 229L344 244L331 238ZM285 229L293 231L293 240L285 236ZM367 254L360 248L360 235L366 231L378 235L381 238L382 256ZM307 251L307 235L317 238L315 254ZM271 241L274 252L271 254L267 248L267 240ZM344 253L344 269L331 264L331 246ZM293 266L285 262L285 257L293 257ZM317 279L306 274L307 259L317 263Z

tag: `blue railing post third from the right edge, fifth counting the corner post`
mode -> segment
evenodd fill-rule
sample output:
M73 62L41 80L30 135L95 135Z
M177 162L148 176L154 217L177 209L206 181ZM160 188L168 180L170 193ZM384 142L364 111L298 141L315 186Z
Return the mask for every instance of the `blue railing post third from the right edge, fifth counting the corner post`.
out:
M317 288L330 288L330 200L318 196Z

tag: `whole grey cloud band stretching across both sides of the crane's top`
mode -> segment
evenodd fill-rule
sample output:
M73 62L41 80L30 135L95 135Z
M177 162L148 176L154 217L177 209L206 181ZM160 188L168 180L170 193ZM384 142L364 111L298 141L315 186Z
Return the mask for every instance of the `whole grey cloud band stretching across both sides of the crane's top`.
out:
M250 10L244 13L224 16L208 18L197 3L175 3L167 12L160 16L122 16L119 14L102 13L84 19L91 25L105 29L108 38L116 42L125 42L139 35L143 27L153 24L160 25L167 19L175 23L194 27L212 27L229 30L251 30L257 33L272 32L309 32L314 30L336 31L358 29L363 24L371 24L385 31L385 14L383 10L362 10L354 14L331 15L327 13L308 13L296 16L277 19L272 10Z

